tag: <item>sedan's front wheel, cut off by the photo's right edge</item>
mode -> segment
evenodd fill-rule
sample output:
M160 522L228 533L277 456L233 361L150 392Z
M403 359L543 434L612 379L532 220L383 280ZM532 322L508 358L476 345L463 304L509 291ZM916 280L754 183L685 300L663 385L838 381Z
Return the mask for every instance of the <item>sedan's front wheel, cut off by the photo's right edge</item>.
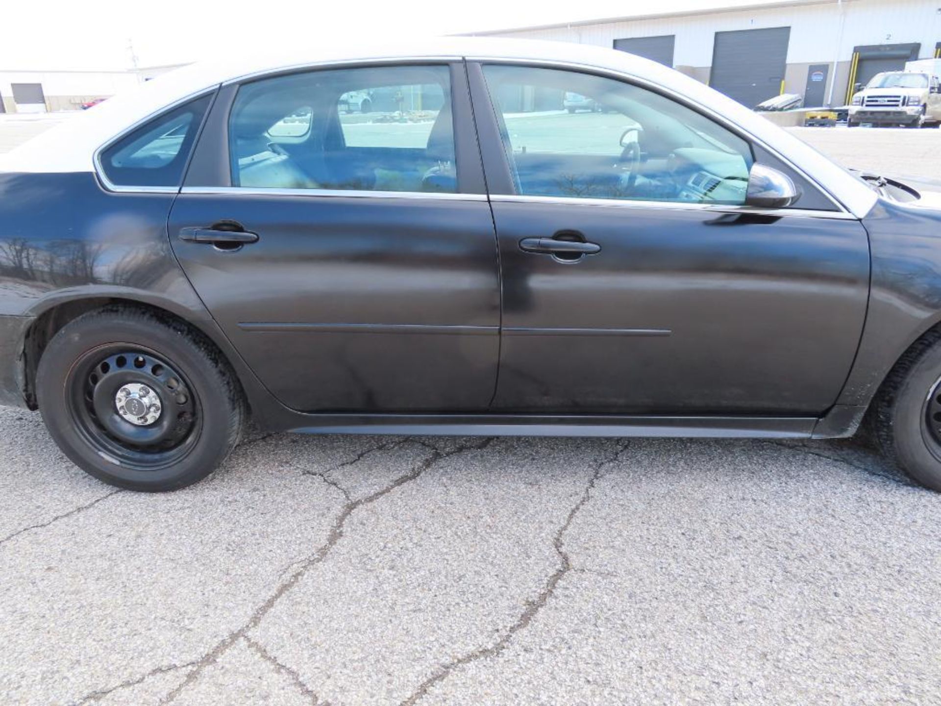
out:
M913 345L873 402L871 426L886 458L913 480L941 490L941 333Z

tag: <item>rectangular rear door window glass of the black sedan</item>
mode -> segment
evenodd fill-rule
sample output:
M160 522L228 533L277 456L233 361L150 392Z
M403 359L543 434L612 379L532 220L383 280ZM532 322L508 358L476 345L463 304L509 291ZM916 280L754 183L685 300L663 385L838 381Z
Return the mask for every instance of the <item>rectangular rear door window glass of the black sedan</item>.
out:
M449 69L342 69L246 84L232 105L229 152L235 186L455 192Z

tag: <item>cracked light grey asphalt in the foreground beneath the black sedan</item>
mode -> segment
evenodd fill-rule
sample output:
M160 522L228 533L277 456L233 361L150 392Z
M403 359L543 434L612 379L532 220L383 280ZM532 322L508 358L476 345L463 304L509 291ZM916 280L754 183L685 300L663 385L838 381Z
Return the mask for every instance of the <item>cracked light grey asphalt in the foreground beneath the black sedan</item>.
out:
M5 706L939 703L939 595L858 441L255 433L144 495L0 409Z

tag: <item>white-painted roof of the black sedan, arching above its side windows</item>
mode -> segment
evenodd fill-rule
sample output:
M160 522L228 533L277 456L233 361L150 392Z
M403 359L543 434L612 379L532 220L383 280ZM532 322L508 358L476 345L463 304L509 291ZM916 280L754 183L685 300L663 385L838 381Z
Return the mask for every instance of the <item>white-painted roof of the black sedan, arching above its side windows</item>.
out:
M640 79L732 120L758 141L822 185L851 213L869 212L875 195L868 186L837 167L800 139L781 130L742 104L662 64L604 47L563 41L443 37L248 56L242 47L217 53L122 91L102 104L64 120L0 160L5 171L92 171L93 154L105 143L167 106L221 84L269 72L330 64L407 59L481 59L534 61L602 70Z

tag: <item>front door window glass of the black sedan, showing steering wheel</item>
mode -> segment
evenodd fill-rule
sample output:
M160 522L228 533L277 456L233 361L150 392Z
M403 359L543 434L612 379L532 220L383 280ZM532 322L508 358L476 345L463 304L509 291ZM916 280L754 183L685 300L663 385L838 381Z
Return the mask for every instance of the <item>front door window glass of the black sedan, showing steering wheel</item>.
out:
M659 93L587 73L485 66L517 191L742 204L751 148Z

